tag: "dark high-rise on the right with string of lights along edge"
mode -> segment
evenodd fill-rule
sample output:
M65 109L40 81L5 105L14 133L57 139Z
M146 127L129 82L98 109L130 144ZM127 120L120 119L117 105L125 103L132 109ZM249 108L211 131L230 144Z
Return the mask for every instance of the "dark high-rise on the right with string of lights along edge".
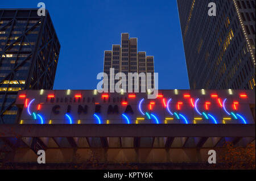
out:
M216 16L209 16L210 2ZM177 0L191 89L255 90L255 1Z

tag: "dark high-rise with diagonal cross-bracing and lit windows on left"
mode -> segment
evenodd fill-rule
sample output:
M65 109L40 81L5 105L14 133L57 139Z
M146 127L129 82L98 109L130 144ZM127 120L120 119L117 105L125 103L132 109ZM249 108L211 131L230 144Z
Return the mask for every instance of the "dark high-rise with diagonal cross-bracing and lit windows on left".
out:
M53 88L60 43L48 11L37 11L0 9L0 124L18 120L19 90Z

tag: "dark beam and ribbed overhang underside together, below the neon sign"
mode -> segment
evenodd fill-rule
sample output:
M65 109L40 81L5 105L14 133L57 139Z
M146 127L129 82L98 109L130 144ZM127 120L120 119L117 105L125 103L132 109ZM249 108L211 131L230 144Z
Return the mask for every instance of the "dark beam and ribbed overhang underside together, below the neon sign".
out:
M11 149L216 148L255 141L255 124L23 124L1 125L0 134Z

